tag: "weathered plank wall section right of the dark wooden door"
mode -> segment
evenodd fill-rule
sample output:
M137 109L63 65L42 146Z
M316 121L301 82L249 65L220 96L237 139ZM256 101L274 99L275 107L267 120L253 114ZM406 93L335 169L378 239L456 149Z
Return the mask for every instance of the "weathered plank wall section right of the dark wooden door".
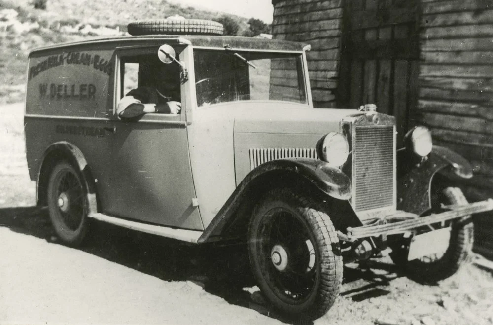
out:
M466 196L493 197L493 1L421 0L418 121L474 166ZM476 247L493 252L493 218Z

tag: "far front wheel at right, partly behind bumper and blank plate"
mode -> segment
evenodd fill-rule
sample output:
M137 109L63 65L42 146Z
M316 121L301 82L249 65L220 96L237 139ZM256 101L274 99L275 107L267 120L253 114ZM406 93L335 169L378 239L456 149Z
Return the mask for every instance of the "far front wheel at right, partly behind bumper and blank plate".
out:
M467 199L457 187L447 187L432 193L432 210L438 212L440 205L467 204ZM432 224L434 229L450 227L450 239L443 252L407 260L410 239L401 240L391 246L390 257L405 269L407 275L418 282L433 283L456 273L467 260L472 250L474 228L470 216L448 221L446 224Z

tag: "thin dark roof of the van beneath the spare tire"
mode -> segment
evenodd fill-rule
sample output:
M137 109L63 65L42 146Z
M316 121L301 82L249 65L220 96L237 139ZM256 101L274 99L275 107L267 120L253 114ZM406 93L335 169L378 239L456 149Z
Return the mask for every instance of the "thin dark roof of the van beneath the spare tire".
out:
M194 47L224 48L229 45L236 50L266 50L266 51L303 51L308 49L306 43L292 42L278 39L266 39L241 36L199 36L199 35L144 35L144 36L119 36L107 38L95 38L84 41L61 43L51 46L37 48L31 51L36 53L51 49L60 49L89 44L115 43L115 47L122 46L142 46L142 42L149 42L149 45L160 45L163 42L169 44L191 44Z

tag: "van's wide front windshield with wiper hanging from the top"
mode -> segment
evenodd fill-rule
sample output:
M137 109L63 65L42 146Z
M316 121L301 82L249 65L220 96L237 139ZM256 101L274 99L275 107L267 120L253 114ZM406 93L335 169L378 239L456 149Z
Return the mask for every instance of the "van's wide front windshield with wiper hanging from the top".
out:
M299 53L197 49L194 65L199 107L248 100L307 103Z

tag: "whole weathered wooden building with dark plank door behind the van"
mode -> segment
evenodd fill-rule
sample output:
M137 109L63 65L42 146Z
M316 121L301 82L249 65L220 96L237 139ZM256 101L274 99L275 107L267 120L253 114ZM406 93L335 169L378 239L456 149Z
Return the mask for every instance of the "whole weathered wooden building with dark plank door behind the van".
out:
M464 155L469 200L493 197L493 0L272 0L273 36L312 45L318 108L377 104L399 138L426 125ZM493 218L476 249L493 255Z

